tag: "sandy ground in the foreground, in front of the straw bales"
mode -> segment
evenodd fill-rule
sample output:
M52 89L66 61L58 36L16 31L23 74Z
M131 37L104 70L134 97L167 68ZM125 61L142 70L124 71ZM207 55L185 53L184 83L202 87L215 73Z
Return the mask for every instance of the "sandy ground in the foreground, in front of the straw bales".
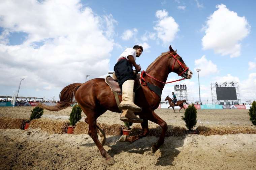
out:
M108 165L88 135L37 129L0 129L0 169L256 169L256 134L167 137L151 154L156 137L133 143L107 136Z

